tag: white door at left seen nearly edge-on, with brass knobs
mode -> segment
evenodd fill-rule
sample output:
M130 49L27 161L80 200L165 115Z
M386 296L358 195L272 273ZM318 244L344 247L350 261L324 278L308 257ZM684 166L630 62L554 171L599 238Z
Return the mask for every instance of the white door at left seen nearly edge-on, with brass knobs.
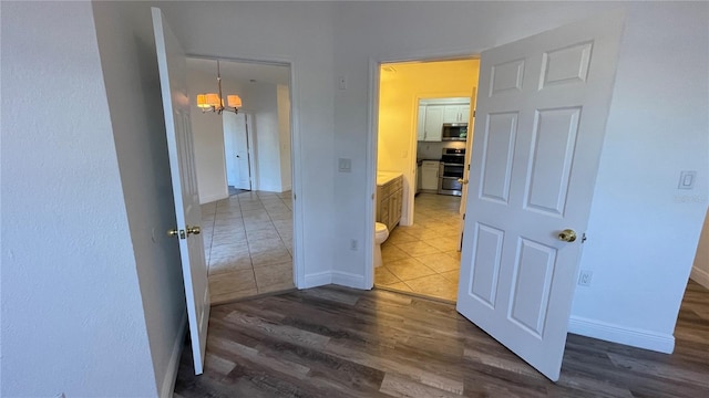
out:
M204 367L209 322L209 284L204 259L204 241L199 234L202 210L194 163L187 64L184 51L165 23L160 9L153 8L153 30L157 49L157 67L165 112L165 134L169 153L169 170L175 200L175 229L168 234L179 240L182 274L185 281L189 336L195 374Z

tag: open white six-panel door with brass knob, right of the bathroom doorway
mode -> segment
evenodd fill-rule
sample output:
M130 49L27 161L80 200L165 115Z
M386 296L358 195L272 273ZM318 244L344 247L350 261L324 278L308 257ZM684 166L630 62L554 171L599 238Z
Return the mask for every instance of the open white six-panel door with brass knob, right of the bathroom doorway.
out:
M623 17L481 54L458 311L559 377Z

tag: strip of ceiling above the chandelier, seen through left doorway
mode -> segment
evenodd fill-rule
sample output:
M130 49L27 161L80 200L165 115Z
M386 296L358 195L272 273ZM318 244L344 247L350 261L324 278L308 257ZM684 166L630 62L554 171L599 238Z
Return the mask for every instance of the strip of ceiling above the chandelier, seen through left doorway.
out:
M187 57L187 67L207 73L217 74L217 61L209 59ZM222 78L240 82L251 80L258 83L290 84L290 66L274 65L254 62L235 62L219 60Z

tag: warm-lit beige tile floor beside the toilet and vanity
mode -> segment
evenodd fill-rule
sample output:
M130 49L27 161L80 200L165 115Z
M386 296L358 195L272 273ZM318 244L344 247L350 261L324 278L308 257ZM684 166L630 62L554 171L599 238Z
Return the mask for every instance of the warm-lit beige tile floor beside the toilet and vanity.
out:
M460 202L460 197L417 196L413 226L394 228L381 245L383 264L374 270L374 285L455 301Z

